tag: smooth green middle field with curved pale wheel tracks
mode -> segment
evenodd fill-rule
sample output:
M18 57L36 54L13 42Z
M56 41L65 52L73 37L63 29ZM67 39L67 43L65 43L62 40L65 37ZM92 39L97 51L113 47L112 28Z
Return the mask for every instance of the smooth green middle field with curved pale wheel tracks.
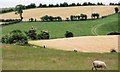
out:
M111 31L118 31L118 14L104 19L88 21L63 21L63 22L21 22L17 24L2 27L2 35L9 33L14 29L28 31L32 26L41 30L48 30L50 38L63 38L67 30L72 31L75 37L106 35Z

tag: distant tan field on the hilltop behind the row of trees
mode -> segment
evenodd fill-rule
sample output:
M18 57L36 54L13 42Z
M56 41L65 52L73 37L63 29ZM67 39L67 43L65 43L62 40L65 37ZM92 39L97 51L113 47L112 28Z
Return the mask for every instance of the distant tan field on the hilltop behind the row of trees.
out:
M24 21L28 21L33 17L40 20L44 15L61 16L63 19L70 17L70 15L87 14L91 18L92 13L99 13L100 17L114 13L114 8L117 6L77 6L77 7L56 7L56 8L35 8L24 10ZM1 14L3 19L16 19L19 15L15 12Z

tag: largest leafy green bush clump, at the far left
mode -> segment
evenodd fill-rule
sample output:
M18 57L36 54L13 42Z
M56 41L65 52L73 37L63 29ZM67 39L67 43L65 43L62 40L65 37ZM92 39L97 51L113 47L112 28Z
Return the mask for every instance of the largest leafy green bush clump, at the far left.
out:
M28 44L27 37L20 30L13 30L7 35L4 35L1 39L2 43L8 44L19 44L25 45Z

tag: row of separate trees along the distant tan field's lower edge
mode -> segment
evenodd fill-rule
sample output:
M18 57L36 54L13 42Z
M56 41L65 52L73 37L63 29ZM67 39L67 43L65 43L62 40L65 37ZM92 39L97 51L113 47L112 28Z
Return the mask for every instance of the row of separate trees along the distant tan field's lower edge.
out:
M23 16L22 16L23 9L24 9L24 6L22 6L22 5L17 5L15 7L15 11L16 11L15 14L19 14L20 15L21 21L23 19ZM118 7L115 7L114 9L115 9L115 13L118 13L118 11L119 11ZM92 14L91 17L94 18L94 19L95 19L95 17L97 17L97 19L98 19L99 18L99 14L98 13L94 13L94 14ZM80 18L86 20L87 19L87 15L86 14L81 14L80 16L73 16L73 15L71 15L70 18L71 18L71 20L80 20ZM53 16L46 15L46 16L41 17L41 20L42 21L62 21L62 18L60 16L53 17ZM29 19L29 21L33 21L33 18Z

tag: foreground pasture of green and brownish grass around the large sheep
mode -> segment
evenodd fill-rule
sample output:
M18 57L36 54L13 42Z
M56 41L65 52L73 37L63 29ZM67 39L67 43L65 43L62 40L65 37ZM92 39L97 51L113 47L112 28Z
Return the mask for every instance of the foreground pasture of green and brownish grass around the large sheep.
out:
M106 62L118 69L117 53L76 53L32 46L2 45L3 70L91 70L92 61Z

